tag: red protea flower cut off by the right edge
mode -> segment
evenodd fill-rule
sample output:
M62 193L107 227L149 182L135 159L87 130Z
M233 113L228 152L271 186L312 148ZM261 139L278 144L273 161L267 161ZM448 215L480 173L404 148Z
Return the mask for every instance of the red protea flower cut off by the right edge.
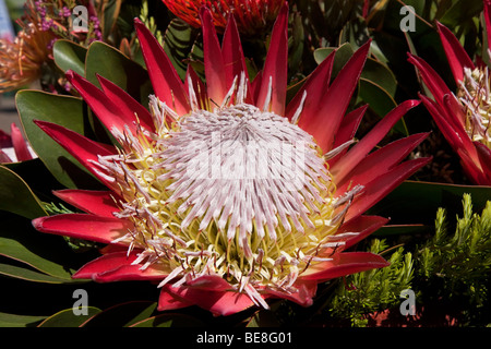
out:
M491 1L484 1L488 39L491 38ZM409 56L433 99L420 96L450 145L460 157L469 179L491 185L491 91L489 68L474 63L454 34L436 23L440 38L457 84L453 93L421 58Z

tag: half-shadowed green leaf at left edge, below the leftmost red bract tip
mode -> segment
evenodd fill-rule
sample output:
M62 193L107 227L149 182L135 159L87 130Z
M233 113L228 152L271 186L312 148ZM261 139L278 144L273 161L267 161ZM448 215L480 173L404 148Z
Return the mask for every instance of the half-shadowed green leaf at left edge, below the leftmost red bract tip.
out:
M77 282L71 276L77 263L75 254L60 237L35 230L29 219L3 213L0 215L0 255L25 263L31 267L65 282Z

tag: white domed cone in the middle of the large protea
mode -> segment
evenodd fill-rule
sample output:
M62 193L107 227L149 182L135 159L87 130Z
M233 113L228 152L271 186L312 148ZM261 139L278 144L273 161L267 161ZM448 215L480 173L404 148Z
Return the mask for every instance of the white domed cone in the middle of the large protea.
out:
M167 203L180 202L182 229L215 221L250 257L253 230L275 241L278 229L314 228L330 177L312 136L285 118L250 105L200 110L161 143L158 180L173 180Z

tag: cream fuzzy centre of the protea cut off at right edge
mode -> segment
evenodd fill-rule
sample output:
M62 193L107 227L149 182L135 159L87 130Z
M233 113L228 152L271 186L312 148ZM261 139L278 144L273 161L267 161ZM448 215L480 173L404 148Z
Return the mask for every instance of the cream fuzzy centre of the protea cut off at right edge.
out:
M464 69L464 81L457 96L465 106L466 131L472 141L491 148L491 94L488 68Z

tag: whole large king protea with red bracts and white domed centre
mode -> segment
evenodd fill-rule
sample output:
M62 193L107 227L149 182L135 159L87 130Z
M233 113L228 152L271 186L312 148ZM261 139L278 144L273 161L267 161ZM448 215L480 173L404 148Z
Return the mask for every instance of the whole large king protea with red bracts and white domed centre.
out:
M285 106L287 5L253 82L233 17L220 47L212 13L200 15L206 85L191 67L181 82L135 20L155 92L149 111L101 76L99 89L68 74L120 147L36 121L108 186L56 192L86 214L41 217L36 229L107 243L73 277L156 281L159 310L195 304L227 315L267 309L272 298L307 306L319 282L386 266L347 250L387 222L363 213L428 163L399 164L427 134L369 154L418 101L403 103L349 148L367 107L345 112L369 43L330 85L331 55Z

